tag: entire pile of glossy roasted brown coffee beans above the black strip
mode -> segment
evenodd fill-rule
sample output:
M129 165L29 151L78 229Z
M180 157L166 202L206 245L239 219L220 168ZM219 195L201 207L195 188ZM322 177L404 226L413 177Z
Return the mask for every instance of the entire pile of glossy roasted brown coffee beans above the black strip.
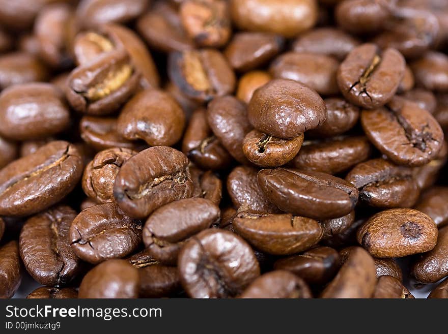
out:
M0 0L0 296L448 298L447 51L446 0Z

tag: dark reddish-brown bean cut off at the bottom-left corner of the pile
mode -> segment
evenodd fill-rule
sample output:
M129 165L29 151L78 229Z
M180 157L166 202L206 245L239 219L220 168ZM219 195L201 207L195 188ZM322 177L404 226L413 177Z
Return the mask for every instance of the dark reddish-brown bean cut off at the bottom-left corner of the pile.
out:
M0 298L11 298L21 279L19 244L12 240L0 247Z

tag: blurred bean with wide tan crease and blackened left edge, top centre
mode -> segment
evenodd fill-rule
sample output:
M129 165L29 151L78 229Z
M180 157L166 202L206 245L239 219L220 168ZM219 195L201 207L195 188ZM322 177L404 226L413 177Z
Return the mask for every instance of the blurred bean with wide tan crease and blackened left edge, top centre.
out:
M182 93L201 102L231 94L236 85L227 59L214 49L170 53L168 75Z

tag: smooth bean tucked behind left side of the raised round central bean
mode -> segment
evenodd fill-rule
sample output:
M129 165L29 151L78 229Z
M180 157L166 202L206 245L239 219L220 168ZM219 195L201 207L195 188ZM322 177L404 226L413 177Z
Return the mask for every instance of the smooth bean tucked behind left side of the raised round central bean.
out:
M208 105L207 122L232 157L242 164L247 163L242 146L252 127L246 105L233 96L217 97Z

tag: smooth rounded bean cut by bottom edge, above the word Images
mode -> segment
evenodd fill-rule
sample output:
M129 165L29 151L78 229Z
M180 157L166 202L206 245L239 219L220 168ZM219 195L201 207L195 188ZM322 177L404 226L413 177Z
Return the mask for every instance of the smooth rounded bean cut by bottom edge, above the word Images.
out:
M79 298L136 298L138 269L128 261L113 259L98 264L82 279Z

